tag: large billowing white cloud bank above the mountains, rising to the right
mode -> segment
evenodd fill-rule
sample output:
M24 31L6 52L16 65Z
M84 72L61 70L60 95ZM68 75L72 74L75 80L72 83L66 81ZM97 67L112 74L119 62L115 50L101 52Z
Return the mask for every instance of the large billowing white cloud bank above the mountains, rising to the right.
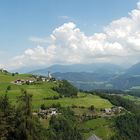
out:
M112 21L103 33L86 36L72 22L56 28L48 38L30 38L41 46L10 61L14 68L55 63L135 63L140 59L140 2L127 17ZM15 62L16 63L13 63ZM128 63L128 62L127 62Z

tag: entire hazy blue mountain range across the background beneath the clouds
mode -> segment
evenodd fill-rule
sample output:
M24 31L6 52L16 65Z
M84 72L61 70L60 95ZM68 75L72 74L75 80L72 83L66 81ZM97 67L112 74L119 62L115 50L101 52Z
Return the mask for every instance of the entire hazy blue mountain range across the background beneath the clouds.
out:
M140 63L130 68L109 63L53 65L31 71L31 74L47 76L48 71L57 79L66 79L80 89L139 89Z

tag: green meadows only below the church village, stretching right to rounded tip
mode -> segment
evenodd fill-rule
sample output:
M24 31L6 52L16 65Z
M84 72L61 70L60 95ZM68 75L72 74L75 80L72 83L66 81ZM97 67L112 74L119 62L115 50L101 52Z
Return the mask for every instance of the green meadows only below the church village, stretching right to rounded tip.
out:
M44 98L52 97L54 95L58 95L57 92L53 91L51 89L51 86L53 84L51 83L44 83L41 84L39 87L34 85L29 86L17 86L17 85L11 85L11 90L7 93L5 90L0 90L0 94L7 94L12 102L15 102L17 100L17 96L20 95L21 89L24 88L27 90L28 93L33 95L33 107L39 108L41 104L45 104L46 106L51 106L52 104L60 103L62 106L84 106L89 107L91 105L94 105L96 108L110 108L112 107L112 104L105 99L100 98L96 95L86 95L83 97L78 98L60 98L57 100L44 100ZM78 95L83 95L83 93L78 93Z

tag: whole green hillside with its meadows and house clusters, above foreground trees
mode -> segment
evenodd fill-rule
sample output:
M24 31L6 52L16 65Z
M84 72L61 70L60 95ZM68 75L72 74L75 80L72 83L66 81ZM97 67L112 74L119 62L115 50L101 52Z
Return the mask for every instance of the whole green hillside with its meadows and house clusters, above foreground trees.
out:
M99 92L98 94L96 91L78 91L77 96L62 96L59 92L54 90L56 87L59 87L62 81L60 79L48 81L44 80L44 78L45 77L38 77L32 74L1 71L0 96L7 95L11 104L17 105L18 97L26 90L27 93L32 95L33 114L37 114L42 107L46 109L56 108L57 111L62 110L60 108L69 108L79 120L77 122L77 127L81 131L84 139L96 135L103 140L110 140L117 134L115 127L116 117L126 113L127 106L126 108L123 106L124 109L120 110L119 106L121 106L121 104L114 104L114 102L110 100L112 97L109 97L107 93L106 98L102 93L100 94ZM23 81L23 83L20 83L21 81ZM32 82L30 83L28 81ZM112 92L112 96L114 96L115 91L110 92ZM120 94L117 93L116 95L118 97L120 96L119 98L124 98L125 100L140 105L139 97L126 95L125 93L122 96L122 93L120 92ZM118 100L120 100L119 98ZM45 129L48 129L50 116L47 117L45 114L42 114L42 117L40 118L40 123Z

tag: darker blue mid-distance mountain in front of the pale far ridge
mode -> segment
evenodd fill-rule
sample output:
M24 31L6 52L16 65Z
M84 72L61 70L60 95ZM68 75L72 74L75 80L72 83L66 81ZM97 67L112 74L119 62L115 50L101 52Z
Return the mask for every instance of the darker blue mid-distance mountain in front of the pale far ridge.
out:
M115 77L114 74L89 73L89 72L66 72L53 73L57 79L66 79L83 90L108 89L111 88L108 81Z

